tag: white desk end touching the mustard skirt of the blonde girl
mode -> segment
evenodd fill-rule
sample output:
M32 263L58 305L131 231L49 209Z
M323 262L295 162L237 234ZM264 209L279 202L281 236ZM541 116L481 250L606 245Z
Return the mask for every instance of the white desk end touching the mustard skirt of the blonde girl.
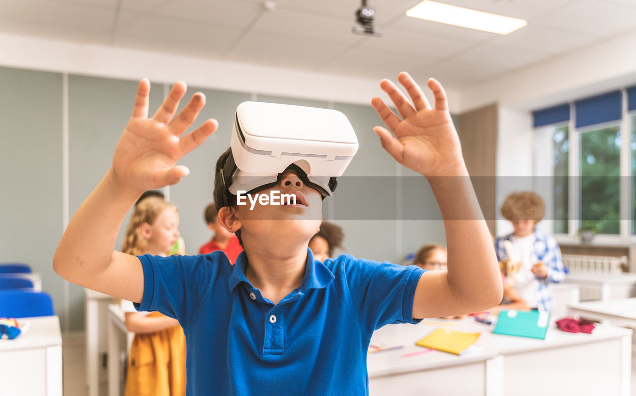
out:
M121 378L121 357L127 357L135 333L128 331L121 307L108 306L108 396L123 394Z

